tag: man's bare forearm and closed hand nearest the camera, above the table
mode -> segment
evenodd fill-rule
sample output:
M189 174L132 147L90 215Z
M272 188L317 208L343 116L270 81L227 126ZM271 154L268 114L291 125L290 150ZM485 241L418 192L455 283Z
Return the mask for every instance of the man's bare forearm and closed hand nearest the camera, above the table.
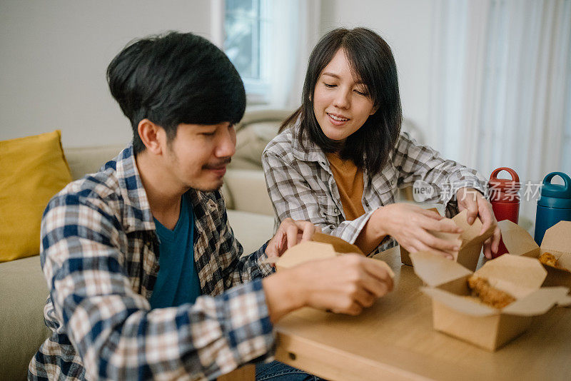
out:
M310 260L262 282L272 322L306 306L358 315L393 290L388 265L358 254Z

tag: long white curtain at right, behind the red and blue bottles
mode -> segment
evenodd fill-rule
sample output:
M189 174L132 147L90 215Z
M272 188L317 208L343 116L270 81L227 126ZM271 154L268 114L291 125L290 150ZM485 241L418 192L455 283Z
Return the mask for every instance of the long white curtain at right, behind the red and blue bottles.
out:
M571 0L440 0L430 123L445 156L571 174ZM522 201L535 219L535 199Z

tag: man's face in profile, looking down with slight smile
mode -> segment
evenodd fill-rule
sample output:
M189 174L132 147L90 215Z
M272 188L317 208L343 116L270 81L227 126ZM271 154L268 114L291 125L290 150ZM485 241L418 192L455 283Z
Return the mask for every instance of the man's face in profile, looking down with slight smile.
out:
M226 166L236 153L236 130L231 123L178 125L168 143L166 160L173 178L185 188L215 191L222 186Z

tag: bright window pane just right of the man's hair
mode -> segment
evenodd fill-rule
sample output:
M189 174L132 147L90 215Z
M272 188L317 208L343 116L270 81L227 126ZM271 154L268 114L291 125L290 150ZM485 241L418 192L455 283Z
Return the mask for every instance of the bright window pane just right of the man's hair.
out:
M248 102L268 101L270 14L268 0L226 0L223 49L246 86Z

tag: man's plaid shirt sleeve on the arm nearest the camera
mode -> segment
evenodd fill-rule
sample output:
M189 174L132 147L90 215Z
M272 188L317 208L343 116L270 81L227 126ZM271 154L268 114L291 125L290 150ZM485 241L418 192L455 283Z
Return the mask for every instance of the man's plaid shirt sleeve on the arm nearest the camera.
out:
M118 248L120 224L105 205L54 198L42 222L44 275L56 315L89 377L218 377L271 353L261 280L151 310L131 289Z

